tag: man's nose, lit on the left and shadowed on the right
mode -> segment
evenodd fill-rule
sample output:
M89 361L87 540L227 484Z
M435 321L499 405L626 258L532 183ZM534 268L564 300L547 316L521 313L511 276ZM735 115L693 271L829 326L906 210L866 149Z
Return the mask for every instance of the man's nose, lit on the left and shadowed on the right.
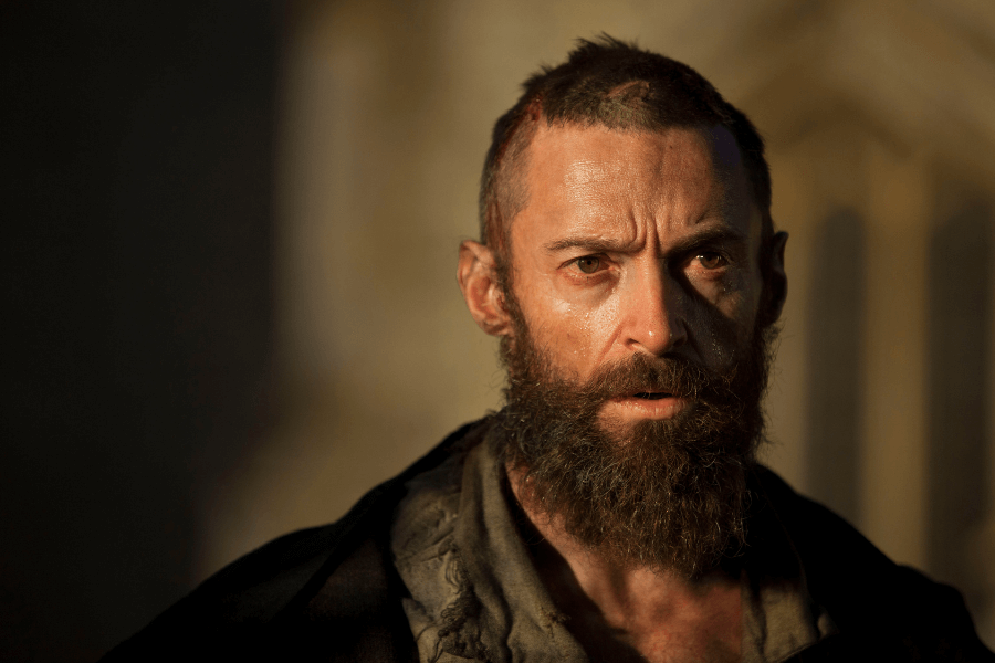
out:
M622 303L622 338L636 352L662 357L688 340L680 284L660 261L636 271Z

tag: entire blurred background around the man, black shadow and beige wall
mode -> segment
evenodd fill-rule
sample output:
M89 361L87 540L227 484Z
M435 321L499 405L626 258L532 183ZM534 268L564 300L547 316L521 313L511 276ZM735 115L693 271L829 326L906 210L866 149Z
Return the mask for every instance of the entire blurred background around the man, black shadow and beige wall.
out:
M995 9L6 0L0 657L98 657L499 406L455 246L517 84L603 30L767 137L768 462L995 643Z

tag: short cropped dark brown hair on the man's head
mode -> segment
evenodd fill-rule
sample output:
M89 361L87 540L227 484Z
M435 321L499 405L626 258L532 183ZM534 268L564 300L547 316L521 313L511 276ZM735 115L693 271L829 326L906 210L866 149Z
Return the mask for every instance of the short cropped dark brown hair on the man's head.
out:
M510 285L511 221L527 203L528 146L551 126L618 130L725 127L743 157L763 217L761 269L773 236L771 170L764 141L750 119L687 64L603 34L579 40L567 61L543 67L523 85L517 103L494 125L480 187L481 242L494 252L499 284ZM766 281L766 274L764 274Z

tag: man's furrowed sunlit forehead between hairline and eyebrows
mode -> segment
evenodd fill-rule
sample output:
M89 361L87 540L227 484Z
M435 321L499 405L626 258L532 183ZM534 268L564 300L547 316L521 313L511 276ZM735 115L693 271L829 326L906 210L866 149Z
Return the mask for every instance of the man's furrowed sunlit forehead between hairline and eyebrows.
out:
M514 225L645 234L651 221L667 234L708 222L760 235L740 150L723 127L649 133L542 126L530 146L526 178L527 202ZM514 225L513 235L521 234L524 229Z

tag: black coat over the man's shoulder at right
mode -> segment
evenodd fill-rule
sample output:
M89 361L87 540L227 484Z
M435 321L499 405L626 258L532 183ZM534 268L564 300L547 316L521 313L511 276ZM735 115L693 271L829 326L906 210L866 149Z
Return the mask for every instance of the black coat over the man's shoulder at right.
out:
M880 654L893 660L995 660L957 590L896 564L845 518L771 470L760 467L755 475L802 562L813 600L839 629L827 644L841 651L886 648Z

